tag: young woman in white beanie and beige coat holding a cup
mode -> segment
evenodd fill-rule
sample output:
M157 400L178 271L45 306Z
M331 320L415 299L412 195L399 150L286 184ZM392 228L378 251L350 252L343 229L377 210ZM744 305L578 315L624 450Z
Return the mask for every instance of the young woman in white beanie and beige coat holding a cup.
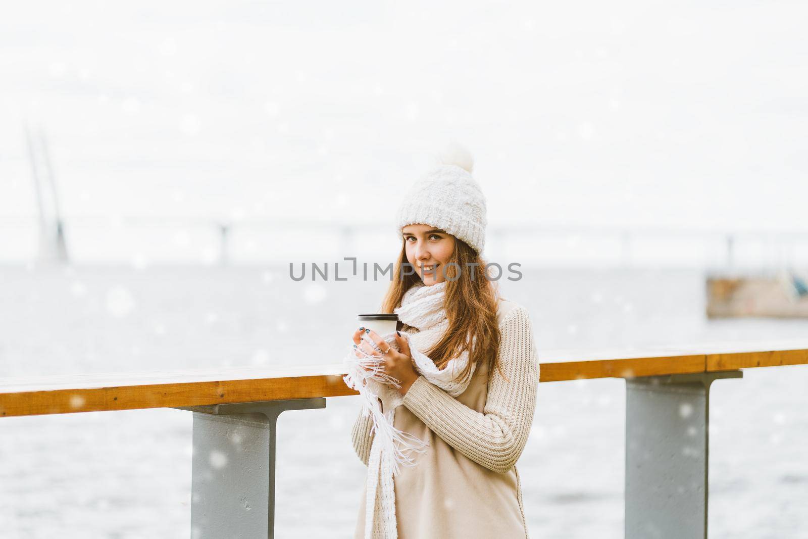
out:
M385 385L393 397L380 398L382 411L423 442L393 477L374 416L360 411L351 436L368 481L358 539L528 537L516 461L539 364L528 311L483 271L486 202L470 171L470 158L437 166L398 211L402 251L381 312L398 314L399 335L352 335L355 356L398 381Z

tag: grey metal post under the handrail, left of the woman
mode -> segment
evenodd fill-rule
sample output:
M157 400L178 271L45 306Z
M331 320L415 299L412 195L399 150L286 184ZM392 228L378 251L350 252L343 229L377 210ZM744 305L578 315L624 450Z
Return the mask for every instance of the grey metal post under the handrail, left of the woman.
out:
M275 537L278 415L325 407L322 397L179 407L194 412L191 537Z

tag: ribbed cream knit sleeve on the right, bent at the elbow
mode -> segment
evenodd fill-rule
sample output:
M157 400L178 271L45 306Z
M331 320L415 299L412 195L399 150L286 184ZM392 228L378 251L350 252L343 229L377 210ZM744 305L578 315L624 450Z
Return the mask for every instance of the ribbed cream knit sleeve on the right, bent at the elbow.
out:
M482 413L419 377L404 395L410 409L458 452L500 474L519 460L536 410L539 362L528 311L516 305L499 323L499 361Z

